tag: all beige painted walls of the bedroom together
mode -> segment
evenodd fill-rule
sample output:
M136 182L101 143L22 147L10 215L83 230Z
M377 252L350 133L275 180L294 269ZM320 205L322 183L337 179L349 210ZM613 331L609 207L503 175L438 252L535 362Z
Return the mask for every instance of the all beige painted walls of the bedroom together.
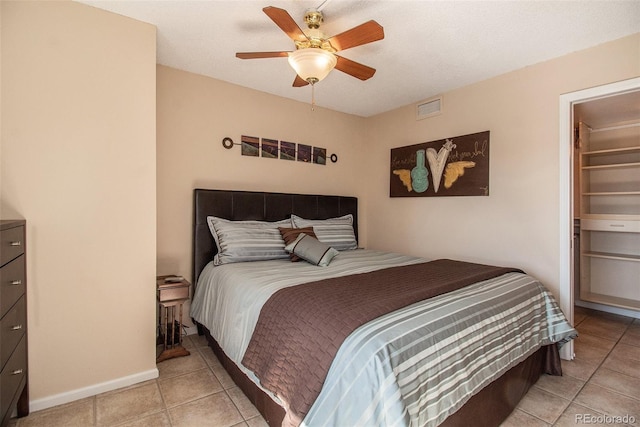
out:
M435 118L407 106L363 119L156 71L152 26L88 6L5 1L0 14L0 195L3 217L28 221L36 403L155 369L153 278L191 276L195 187L355 195L364 246L514 264L557 291L558 97L640 75L636 35L446 93ZM390 148L483 130L489 197L388 197ZM222 147L242 134L339 161Z

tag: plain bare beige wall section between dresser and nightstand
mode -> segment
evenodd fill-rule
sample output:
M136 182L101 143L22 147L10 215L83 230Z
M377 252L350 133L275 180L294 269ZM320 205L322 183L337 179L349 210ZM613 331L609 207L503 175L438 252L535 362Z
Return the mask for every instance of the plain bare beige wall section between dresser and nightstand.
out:
M2 215L27 220L32 410L157 376L155 27L2 7Z

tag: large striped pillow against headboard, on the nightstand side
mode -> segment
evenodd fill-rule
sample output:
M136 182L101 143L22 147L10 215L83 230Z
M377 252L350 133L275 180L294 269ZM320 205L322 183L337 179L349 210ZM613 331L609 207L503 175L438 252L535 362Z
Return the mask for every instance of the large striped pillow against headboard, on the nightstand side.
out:
M207 217L209 230L218 247L214 265L232 262L264 261L288 258L278 227L291 226L291 220L277 222L230 221Z

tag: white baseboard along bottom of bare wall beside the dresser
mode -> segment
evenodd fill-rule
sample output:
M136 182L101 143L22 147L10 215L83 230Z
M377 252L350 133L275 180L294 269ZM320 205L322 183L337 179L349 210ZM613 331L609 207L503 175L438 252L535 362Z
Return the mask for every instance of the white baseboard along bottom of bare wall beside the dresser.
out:
M117 378L115 380L106 381L100 384L94 384L88 387L55 394L53 396L43 397L42 399L31 400L29 401L29 411L41 411L43 409L52 408L54 406L63 405L69 402L74 402L76 400L84 399L85 397L95 396L100 393L117 390L122 387L128 387L133 384L153 380L156 378L158 378L157 368L150 369L144 372L138 372L137 374Z

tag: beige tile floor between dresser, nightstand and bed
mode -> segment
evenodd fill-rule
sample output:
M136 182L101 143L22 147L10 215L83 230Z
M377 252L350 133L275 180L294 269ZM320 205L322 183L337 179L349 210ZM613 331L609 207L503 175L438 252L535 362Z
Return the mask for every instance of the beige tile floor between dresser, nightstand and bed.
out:
M158 363L155 380L33 412L12 427L267 426L204 337L183 344L191 354Z

